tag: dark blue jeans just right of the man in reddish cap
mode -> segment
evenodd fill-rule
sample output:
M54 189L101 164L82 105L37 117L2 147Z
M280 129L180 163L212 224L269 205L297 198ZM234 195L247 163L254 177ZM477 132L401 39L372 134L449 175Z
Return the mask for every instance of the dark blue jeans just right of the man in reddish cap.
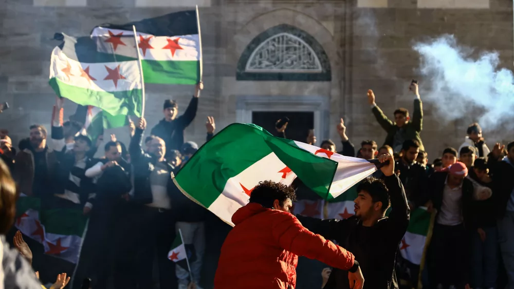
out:
M471 287L494 288L498 278L498 231L496 227L483 228L485 240L478 232L471 235Z

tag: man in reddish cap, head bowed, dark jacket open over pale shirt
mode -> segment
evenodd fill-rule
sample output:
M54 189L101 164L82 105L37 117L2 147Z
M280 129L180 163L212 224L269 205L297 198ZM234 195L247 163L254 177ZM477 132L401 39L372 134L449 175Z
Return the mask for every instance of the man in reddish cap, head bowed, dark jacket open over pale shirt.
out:
M468 284L469 235L468 224L473 198L473 184L466 178L468 168L455 162L434 172L428 182L431 203L437 209L432 240L428 251L431 287Z

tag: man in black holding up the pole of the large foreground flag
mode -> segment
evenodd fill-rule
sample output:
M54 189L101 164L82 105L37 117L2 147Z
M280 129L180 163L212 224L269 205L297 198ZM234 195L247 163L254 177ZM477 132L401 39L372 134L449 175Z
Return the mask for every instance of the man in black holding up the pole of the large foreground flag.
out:
M340 221L297 217L311 232L335 240L354 253L366 278L364 288L398 288L394 264L398 245L409 225L409 206L403 186L394 174L393 157L387 154L379 160L389 161L381 168L384 181L370 177L358 186L355 216ZM390 203L391 213L384 217ZM347 275L334 269L324 288L350 288Z

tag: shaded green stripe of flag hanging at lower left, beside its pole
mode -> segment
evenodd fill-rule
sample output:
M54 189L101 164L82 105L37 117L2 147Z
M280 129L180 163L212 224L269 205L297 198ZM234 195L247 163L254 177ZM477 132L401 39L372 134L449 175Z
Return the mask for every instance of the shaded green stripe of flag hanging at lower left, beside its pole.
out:
M40 211L40 220L46 233L82 237L87 217L81 209L59 208Z

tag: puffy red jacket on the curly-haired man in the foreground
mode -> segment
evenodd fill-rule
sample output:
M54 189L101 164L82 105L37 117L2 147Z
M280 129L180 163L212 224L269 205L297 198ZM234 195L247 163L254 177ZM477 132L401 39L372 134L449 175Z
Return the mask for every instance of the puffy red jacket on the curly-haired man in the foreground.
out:
M249 203L235 212L232 222L235 226L219 257L215 289L293 289L298 255L344 270L354 264L352 253L310 232L284 211Z

